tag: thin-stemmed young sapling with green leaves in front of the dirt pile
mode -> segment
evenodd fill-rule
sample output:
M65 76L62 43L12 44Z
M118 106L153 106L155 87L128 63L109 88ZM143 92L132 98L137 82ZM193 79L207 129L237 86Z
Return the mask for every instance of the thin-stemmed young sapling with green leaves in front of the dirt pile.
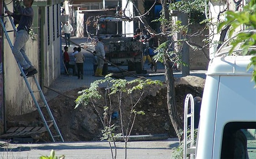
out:
M129 139L129 136L131 134L133 124L135 122L135 118L137 115L144 115L145 112L142 111L137 111L136 106L138 105L141 96L144 93L144 88L146 86L149 86L151 84L159 84L162 85L161 81L158 80L142 80L142 79L135 79L132 81L127 81L125 79L113 79L112 78L113 74L109 74L105 76L105 79L102 80L96 80L93 83L91 83L90 88L87 88L85 90L79 91L78 93L81 94L78 96L76 99L76 107L78 106L93 106L94 110L97 112L102 125L103 125L103 130L101 130L102 137L101 140L107 140L110 145L110 150L112 153L112 158L116 158L117 156L117 151L116 151L116 137L119 137L122 135L125 143L125 158L127 158L127 142ZM97 99L103 98L103 96L100 94L98 91L99 84L104 83L107 85L106 89L106 95L108 96L108 99L105 97L106 101L106 106L104 107L103 113L102 111L98 110L97 107ZM138 93L140 96L133 96L133 94ZM127 109L127 107L123 106L123 96L124 94L127 94L129 96L129 101L130 101L130 113L128 114L128 123L125 125L123 121L123 111L124 109ZM116 128L118 127L116 124L112 123L112 118L111 114L113 113L113 105L112 101L113 98L116 98L118 100L118 109L119 109L119 114L120 117L118 119L120 120L120 125L121 125L121 132L117 133ZM135 102L133 103L133 99L135 99ZM127 103L126 105L127 106ZM127 121L126 121L127 122ZM113 150L111 147L111 144L114 144L115 148L115 154L113 154Z

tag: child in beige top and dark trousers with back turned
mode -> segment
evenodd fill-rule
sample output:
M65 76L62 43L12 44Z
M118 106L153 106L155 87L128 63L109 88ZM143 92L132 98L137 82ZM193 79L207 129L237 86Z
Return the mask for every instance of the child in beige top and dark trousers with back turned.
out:
M84 62L84 55L81 53L81 48L77 48L78 53L75 54L76 58L76 66L77 66L77 79L83 79L83 62Z

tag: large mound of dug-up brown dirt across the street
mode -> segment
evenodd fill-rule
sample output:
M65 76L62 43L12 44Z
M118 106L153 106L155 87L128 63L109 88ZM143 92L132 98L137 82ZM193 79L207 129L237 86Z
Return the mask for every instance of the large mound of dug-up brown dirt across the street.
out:
M181 118L183 118L185 96L190 93L193 96L202 97L204 82L204 79L196 76L187 76L175 79L176 100L179 116ZM83 89L86 88L81 87L65 92L65 94L71 98L59 95L48 102L65 141L92 141L100 140L100 137L102 137L102 122L106 122L106 118L101 121L99 119L99 115L103 117L103 108L106 106L106 101L108 101L108 97L106 96L105 98L105 89L99 88L99 92L101 92L103 98L94 101L97 111L93 105L88 105L86 107L79 106L74 109L76 105L74 99L78 97L78 91ZM166 104L166 85L148 86L145 88L141 97L140 94L141 92L132 94L132 98L125 94L122 95L121 114L119 111L119 101L117 100L117 96L111 98L112 114L109 114L109 116L112 116L112 124L119 126L116 129L116 133L121 133L120 118L122 118L124 127L128 124L131 125L131 122L129 123L129 121L131 121L129 120L132 107L131 101L135 104L136 101L141 98L134 109L136 111L143 110L145 115L136 116L131 135L168 134L170 137L176 137ZM14 123L16 123L15 126L28 126L28 124L33 121L41 121L41 118L39 113L34 111L22 116L12 117L9 121L16 122L7 122L8 127L14 126ZM42 138L46 141L50 140L47 133Z

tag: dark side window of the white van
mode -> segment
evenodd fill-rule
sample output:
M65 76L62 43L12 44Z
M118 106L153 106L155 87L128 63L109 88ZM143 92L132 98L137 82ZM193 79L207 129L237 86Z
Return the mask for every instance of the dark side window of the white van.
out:
M224 126L221 159L256 158L256 122L230 122Z

